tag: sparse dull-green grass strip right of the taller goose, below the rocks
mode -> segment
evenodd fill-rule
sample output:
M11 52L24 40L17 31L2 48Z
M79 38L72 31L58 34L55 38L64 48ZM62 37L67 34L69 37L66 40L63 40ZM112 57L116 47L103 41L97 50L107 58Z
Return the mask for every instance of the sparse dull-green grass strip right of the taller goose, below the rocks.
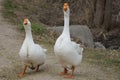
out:
M87 62L101 66L116 67L120 70L120 53L114 50L85 50L84 59Z

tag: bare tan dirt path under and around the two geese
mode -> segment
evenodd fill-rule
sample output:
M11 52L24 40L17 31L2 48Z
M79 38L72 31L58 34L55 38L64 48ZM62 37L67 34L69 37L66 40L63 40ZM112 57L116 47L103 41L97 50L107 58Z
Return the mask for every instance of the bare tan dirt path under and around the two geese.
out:
M69 80L58 75L62 71L61 65L55 58L53 48L44 44L42 46L48 49L47 60L39 72L28 69L24 77L17 77L23 67L18 55L23 39L24 33L18 26L7 22L0 13L0 80ZM113 69L103 70L100 66L85 61L76 68L74 76L72 80L120 80Z

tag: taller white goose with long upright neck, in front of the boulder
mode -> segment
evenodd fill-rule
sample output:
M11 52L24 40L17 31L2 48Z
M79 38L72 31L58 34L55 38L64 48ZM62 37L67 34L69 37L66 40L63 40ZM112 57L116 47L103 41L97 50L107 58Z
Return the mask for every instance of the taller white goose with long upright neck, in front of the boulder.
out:
M80 44L76 44L70 39L69 31L69 15L70 10L67 3L64 3L64 29L60 37L57 39L54 52L57 56L59 62L64 67L64 71L60 75L65 75L66 78L73 78L73 72L75 67L81 63L83 48L80 47ZM68 72L68 66L70 67L71 74L66 75Z

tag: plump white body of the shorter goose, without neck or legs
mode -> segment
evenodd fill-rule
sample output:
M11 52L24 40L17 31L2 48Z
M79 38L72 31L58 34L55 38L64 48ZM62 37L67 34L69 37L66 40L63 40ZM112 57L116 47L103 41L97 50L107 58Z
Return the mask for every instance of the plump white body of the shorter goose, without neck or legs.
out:
M36 67L38 64L42 65L45 62L44 49L40 45L32 43L30 40L24 41L19 55L29 67Z

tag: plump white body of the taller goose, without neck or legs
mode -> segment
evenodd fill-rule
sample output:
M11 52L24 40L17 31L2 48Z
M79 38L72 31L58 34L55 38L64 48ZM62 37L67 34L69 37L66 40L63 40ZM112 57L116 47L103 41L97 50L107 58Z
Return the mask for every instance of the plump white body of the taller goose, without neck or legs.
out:
M54 46L54 52L63 67L78 66L82 60L83 48L61 35Z

